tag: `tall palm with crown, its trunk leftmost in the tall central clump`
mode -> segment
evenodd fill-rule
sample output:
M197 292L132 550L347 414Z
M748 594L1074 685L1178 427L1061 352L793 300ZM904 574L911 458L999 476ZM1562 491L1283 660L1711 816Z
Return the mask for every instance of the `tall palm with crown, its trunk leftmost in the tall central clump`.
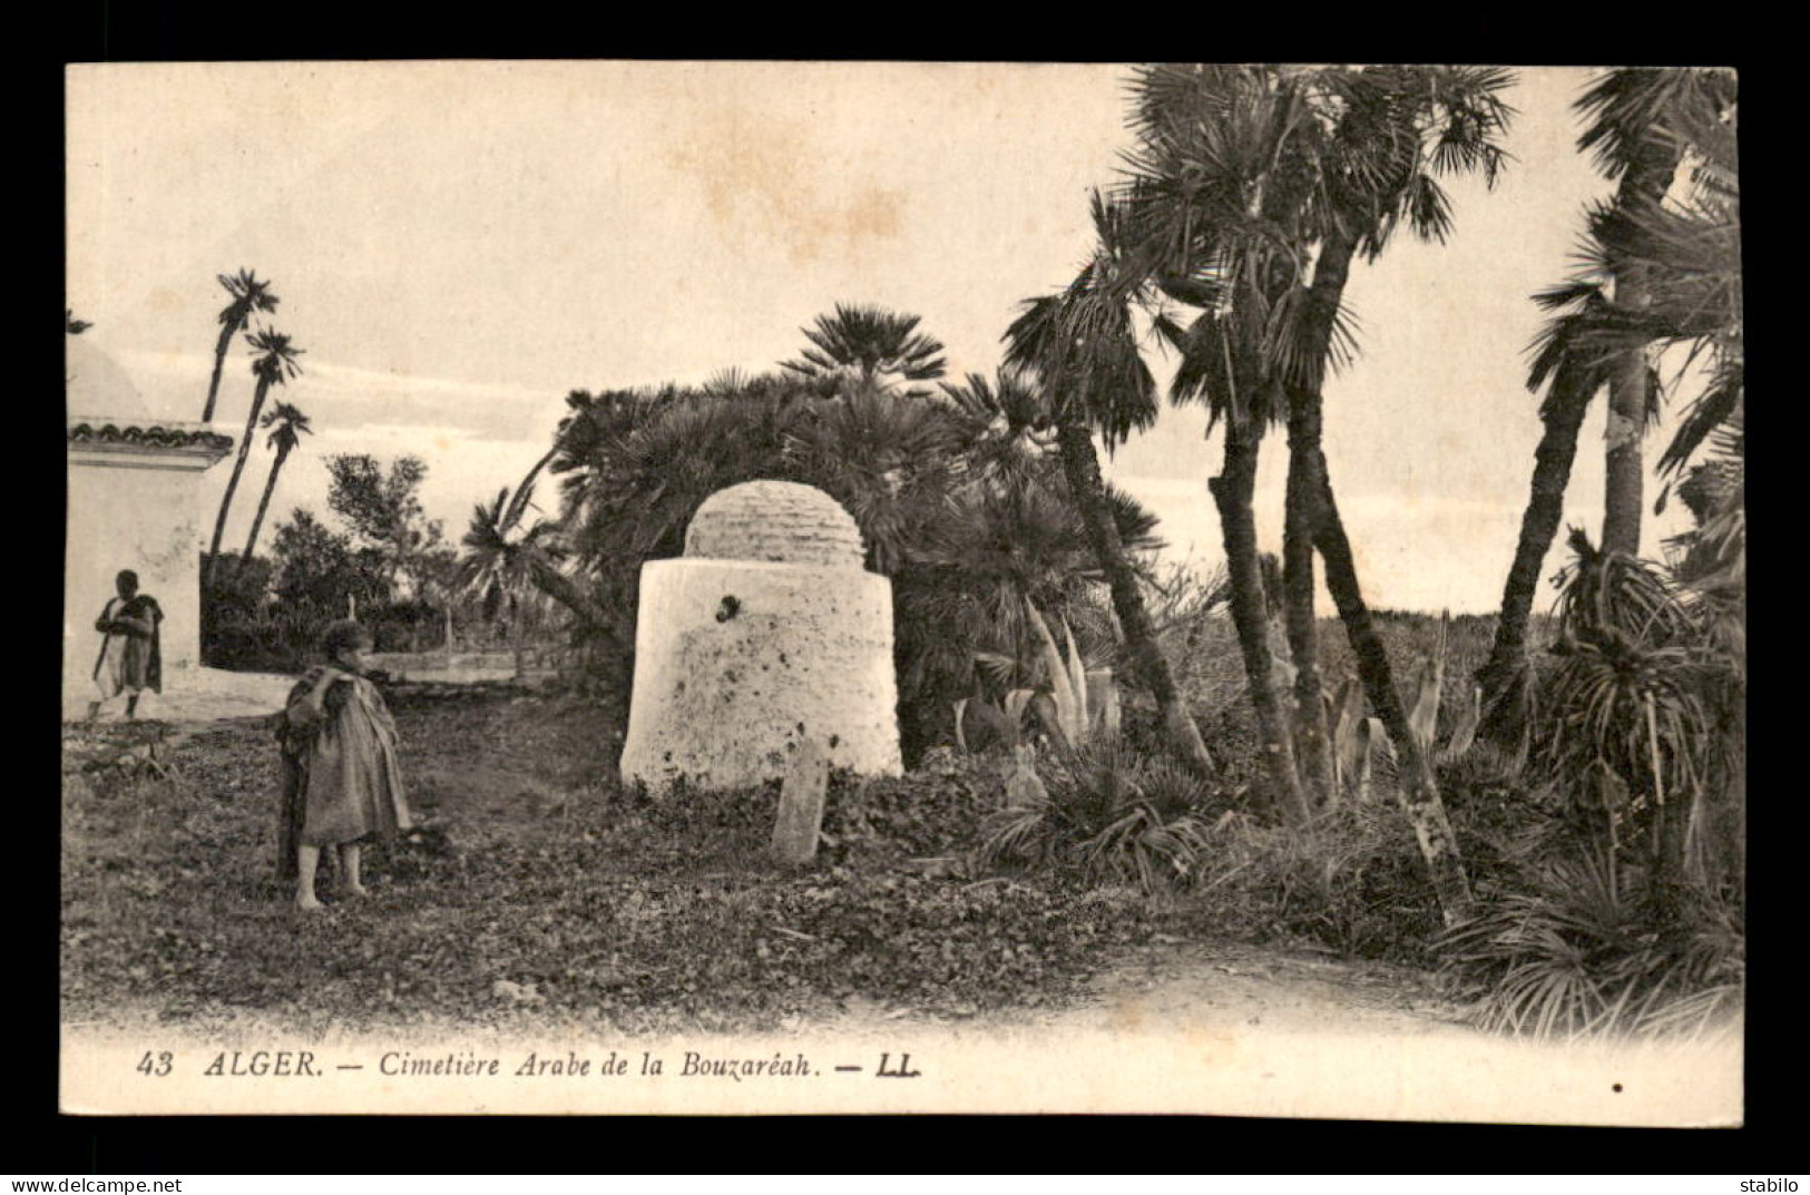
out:
M1289 820L1310 815L1294 733L1276 688L1269 598L1253 494L1262 440L1283 418L1281 364L1300 302L1298 228L1314 197L1319 120L1300 72L1274 67L1151 67L1133 83L1137 148L1115 221L1126 279L1180 351L1171 400L1202 400L1224 425L1224 464L1207 480L1220 516L1231 616L1256 713L1271 802ZM1169 308L1198 310L1184 319Z

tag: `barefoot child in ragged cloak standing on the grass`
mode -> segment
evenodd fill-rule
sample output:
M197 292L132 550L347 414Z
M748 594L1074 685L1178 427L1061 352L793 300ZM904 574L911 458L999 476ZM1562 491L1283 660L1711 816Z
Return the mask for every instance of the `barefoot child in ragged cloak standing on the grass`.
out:
M413 826L396 766L396 722L364 675L371 634L358 623L333 623L320 648L328 663L290 690L279 728L286 773L279 875L295 878L302 909L320 907L320 847L338 847L346 891L366 896L360 844Z

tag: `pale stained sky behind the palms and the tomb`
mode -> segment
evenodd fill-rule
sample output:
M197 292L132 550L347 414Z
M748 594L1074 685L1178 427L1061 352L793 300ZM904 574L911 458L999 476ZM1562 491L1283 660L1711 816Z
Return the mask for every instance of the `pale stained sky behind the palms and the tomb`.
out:
M272 518L324 511L331 453L413 453L427 512L456 540L547 449L570 389L767 369L836 302L918 313L952 377L992 371L1019 304L1088 253L1088 188L1129 147L1128 78L1073 63L76 65L67 306L156 413L194 420L226 302L215 275L273 279L268 322L306 349L277 397L317 435ZM1354 270L1361 357L1327 387L1327 456L1377 607L1500 599L1540 433L1528 297L1571 272L1580 212L1609 190L1575 150L1587 78L1522 71L1497 188L1452 181L1450 243L1401 239ZM248 364L241 342L221 384L217 418L239 429ZM1151 366L1171 368L1155 346ZM1220 440L1204 429L1200 409L1166 409L1108 473L1160 516L1171 559L1207 567ZM268 460L259 442L243 491L261 491ZM228 471L205 478L210 512ZM1283 471L1276 436L1258 482L1271 550ZM226 543L243 545L255 505L237 503ZM1680 518L1678 503L1649 518L1643 550ZM1602 520L1602 404L1566 520ZM1548 572L1560 563L1555 549Z

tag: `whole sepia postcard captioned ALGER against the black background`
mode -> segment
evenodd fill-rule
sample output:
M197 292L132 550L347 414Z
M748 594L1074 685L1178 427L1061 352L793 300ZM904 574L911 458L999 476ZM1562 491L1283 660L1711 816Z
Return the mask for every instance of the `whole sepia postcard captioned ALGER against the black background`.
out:
M1743 1123L1732 69L63 83L62 1112Z

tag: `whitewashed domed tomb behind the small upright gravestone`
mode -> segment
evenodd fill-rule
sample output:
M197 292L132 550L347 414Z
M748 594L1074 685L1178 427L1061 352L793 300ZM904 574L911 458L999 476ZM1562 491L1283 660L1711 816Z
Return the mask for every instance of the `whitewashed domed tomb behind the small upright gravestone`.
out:
M711 494L684 556L641 567L623 779L740 788L804 737L831 768L898 775L892 587L834 498L793 482Z

